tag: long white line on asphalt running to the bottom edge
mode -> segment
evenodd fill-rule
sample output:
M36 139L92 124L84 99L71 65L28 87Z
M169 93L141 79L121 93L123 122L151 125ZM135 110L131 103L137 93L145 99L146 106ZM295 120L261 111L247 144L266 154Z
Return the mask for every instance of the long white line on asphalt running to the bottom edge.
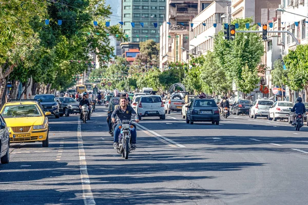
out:
M86 154L83 147L83 140L81 135L81 123L80 119L78 119L78 129L77 129L77 137L78 137L78 150L79 150L79 169L80 169L80 177L82 183L82 191L83 191L83 200L84 204L95 204L94 197L91 190L90 179L88 175L87 169L87 161Z

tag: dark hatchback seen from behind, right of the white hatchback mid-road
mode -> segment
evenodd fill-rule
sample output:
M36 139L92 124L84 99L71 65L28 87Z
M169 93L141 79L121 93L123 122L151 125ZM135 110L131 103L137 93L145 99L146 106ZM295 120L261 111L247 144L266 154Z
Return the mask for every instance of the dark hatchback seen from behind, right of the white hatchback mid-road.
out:
M211 121L219 125L219 109L214 99L194 99L188 107L186 123L194 124L196 121Z

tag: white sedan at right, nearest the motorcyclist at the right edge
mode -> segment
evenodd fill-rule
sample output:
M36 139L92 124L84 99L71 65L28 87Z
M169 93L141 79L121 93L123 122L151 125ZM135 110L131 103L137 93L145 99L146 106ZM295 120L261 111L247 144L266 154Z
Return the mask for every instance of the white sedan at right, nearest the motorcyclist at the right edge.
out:
M277 119L288 119L290 110L293 108L293 103L286 101L276 101L269 108L267 119L277 121Z

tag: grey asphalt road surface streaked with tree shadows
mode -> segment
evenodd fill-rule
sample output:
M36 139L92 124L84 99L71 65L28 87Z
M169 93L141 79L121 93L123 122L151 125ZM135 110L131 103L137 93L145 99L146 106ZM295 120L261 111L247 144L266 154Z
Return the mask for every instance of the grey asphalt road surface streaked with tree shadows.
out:
M219 126L144 117L137 149L112 148L106 109L50 121L49 148L11 144L0 204L306 204L308 127L231 115Z

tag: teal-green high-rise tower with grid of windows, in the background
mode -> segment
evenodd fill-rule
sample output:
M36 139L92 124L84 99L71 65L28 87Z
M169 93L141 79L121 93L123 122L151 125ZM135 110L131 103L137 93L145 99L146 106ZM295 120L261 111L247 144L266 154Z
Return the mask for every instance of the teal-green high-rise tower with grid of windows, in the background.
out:
M122 0L122 28L129 36L128 41L137 43L153 39L159 43L159 26L165 19L165 13L165 0ZM157 28L153 23L158 23Z

